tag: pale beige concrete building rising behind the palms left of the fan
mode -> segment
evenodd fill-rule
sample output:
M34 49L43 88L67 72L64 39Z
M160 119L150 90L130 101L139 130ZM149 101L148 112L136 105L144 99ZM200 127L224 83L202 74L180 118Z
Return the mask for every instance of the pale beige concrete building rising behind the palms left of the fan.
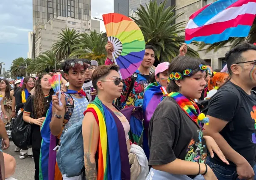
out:
M50 50L58 35L65 28L75 29L78 33L90 33L96 30L100 33L100 22L96 20L83 21L71 17L51 18L45 25L37 23L35 33L35 57Z

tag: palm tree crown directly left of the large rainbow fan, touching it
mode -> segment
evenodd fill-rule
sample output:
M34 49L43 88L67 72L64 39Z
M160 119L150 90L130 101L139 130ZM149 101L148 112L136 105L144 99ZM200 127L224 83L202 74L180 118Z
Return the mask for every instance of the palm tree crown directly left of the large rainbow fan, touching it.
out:
M80 44L73 46L75 50L70 54L70 58L86 58L88 60L96 60L99 65L104 64L104 61L106 60L105 45L107 44L108 39L102 32L97 33L94 30L90 35L82 33L80 41Z

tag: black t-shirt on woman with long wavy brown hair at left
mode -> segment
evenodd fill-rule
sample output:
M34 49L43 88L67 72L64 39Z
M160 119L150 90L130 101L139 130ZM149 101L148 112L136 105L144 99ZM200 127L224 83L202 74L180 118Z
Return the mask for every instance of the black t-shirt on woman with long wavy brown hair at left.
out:
M47 102L48 100L48 102ZM46 116L47 110L50 107L50 102L52 101L52 96L48 96L44 99L44 104L45 104L45 113L42 115L42 117ZM35 114L35 112L31 112L32 111L32 98L31 95L28 96L28 99L25 103L25 107L24 107L24 113L31 113L31 114ZM33 117L34 119L37 119L36 117ZM31 125L32 128L32 148L35 150L40 150L41 148L41 142L42 142L42 136L41 136L41 132L40 132L40 126L39 125L35 125L32 124Z

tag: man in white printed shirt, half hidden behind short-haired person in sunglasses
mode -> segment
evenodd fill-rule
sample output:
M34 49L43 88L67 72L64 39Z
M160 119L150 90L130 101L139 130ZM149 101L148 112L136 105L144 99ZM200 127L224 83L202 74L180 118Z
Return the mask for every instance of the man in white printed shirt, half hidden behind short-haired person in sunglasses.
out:
M91 79L91 76L92 76L92 70L94 69L94 67L91 65L92 61L90 62L89 60L87 59L81 59L84 63L86 63L86 65L88 66L86 71L85 71L85 74L84 74L84 83L83 83L83 91L86 93L87 95L87 98L89 99L89 102L91 103L94 98L96 97L97 95L97 90L95 90L93 88L93 85L92 85L92 79ZM95 61L95 60L94 60ZM97 61L96 61L97 62Z

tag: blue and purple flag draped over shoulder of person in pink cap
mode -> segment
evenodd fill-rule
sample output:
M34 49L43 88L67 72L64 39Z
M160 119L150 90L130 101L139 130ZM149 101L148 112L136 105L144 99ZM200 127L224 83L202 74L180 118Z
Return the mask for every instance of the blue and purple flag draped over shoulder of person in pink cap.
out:
M145 129L143 134L143 150L147 156L147 159L149 159L149 147L148 147L148 138L147 138L149 122L153 113L156 110L156 107L161 102L164 96L160 87L161 85L159 85L158 82L153 82L149 86L147 86L147 89L145 90L143 105L142 105L143 116L144 116L143 125Z

